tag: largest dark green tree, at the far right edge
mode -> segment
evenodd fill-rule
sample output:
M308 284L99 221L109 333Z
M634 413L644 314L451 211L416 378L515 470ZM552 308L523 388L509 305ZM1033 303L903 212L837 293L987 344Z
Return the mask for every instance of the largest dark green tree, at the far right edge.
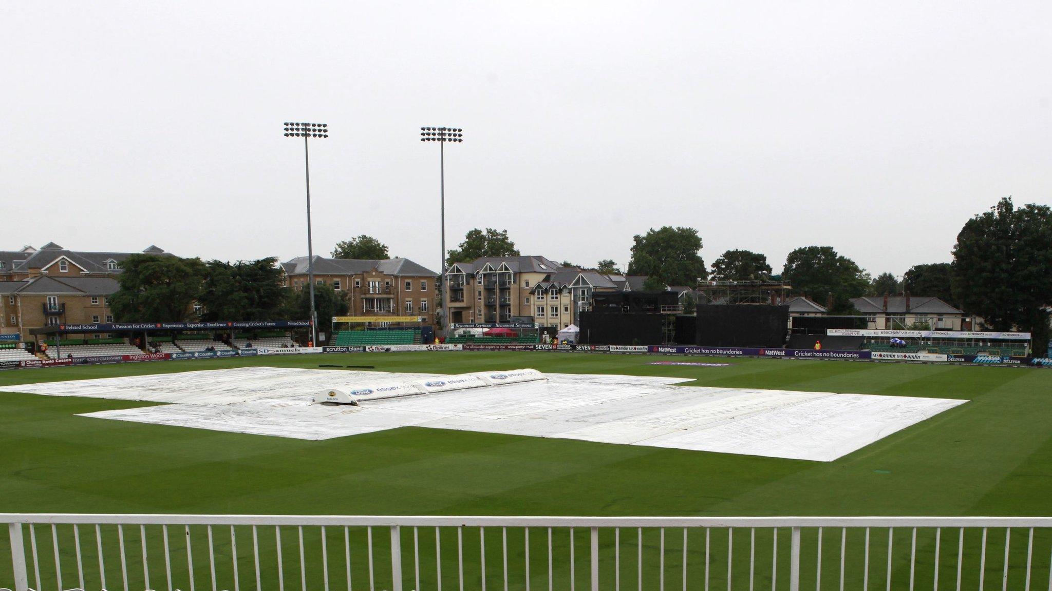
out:
M1030 331L1048 346L1052 293L1052 209L1002 199L965 223L953 247L953 294L995 330Z

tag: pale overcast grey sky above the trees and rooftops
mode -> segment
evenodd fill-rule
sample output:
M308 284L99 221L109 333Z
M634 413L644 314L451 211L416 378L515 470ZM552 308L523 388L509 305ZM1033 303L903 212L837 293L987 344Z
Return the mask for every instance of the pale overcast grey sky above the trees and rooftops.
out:
M697 228L707 264L830 245L873 274L950 260L1003 196L1052 196L1052 3L5 2L0 249L223 260L371 235L439 266L625 264Z

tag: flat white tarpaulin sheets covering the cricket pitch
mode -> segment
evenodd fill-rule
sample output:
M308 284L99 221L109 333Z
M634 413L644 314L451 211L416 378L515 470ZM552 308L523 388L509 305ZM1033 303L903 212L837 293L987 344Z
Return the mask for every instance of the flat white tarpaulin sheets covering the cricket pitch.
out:
M244 367L8 386L8 391L170 403L84 416L326 440L404 426L829 462L966 401L684 387L677 378L548 381L313 404L325 388L431 374Z

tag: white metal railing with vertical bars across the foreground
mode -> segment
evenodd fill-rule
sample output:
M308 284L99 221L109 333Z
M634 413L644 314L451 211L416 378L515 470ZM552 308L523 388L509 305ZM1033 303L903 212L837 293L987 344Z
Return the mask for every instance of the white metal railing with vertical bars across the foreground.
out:
M0 513L0 587L15 591L1052 590L1052 517Z

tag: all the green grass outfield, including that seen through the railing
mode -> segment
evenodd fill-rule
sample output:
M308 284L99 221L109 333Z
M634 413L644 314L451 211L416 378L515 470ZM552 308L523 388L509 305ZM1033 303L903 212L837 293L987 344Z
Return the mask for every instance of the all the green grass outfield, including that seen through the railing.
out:
M652 361L709 361L727 367L655 366ZM200 429L146 425L77 416L77 413L141 406L81 398L0 393L0 512L115 512L115 513L283 513L283 514L494 514L494 515L1052 515L1052 371L955 365L914 365L846 361L614 355L560 352L422 352L288 355L210 361L136 363L76 368L32 369L0 373L8 386L50 380L79 380L245 365L318 368L319 364L375 365L378 370L457 373L483 369L533 367L546 372L629 373L687 376L693 384L726 387L780 388L890 395L967 399L948 410L835 462L820 463L677 449L620 446L569 440L402 428L378 433L309 442ZM297 530L282 528L288 589L300 588ZM320 538L306 530L305 580L321 589ZM77 579L73 531L58 530L62 544L63 587ZM422 583L436 589L434 534L420 532ZM467 587L478 589L481 576L480 533L464 532L464 572ZM500 564L502 531L485 536L489 558L487 588L502 589ZM532 589L547 589L543 528L530 536ZM861 548L865 532L848 530L846 588L883 589L888 562L888 532L874 528L870 559ZM154 527L150 582L163 580L162 541ZM524 532L509 528L511 565L509 589L524 590ZM58 587L55 579L50 531L37 527L41 587ZM82 528L87 588L101 587L94 548L94 531ZM108 588L121 587L116 559L117 531L103 528ZM129 577L134 589L145 588L139 567L141 543L137 528L124 528L129 549ZM356 548L355 589L364 589L368 572L366 532L350 530ZM376 532L376 589L390 588L389 538ZM660 549L666 549L664 576L679 588L682 576L679 530L644 531L644 583L659 589ZM701 590L706 576L702 531L692 531L688 559L689 588ZM804 533L802 588L815 588L816 532ZM837 589L839 531L827 531L823 547L826 565L820 589ZM250 539L240 528L239 544ZM274 528L261 528L263 588L275 590ZM456 532L442 537L443 588L458 589ZM787 588L788 530L780 533L777 587ZM894 531L893 586L910 585L910 531ZM917 541L918 589L932 588L935 532L922 529ZM750 532L735 529L734 588L748 583ZM713 589L727 588L727 530L713 530L709 580ZM1005 530L990 530L986 583L1000 588ZM210 565L204 528L191 533L198 589L209 588ZM174 588L187 589L185 539L181 528L169 533ZM327 532L328 575L335 589L345 585L343 538L339 528ZM769 588L771 531L756 532L756 585ZM412 539L402 537L403 583L411 582ZM946 558L940 579L952 585L955 575L956 531L944 532ZM553 543L557 589L570 578L588 588L588 536L574 538L576 570L568 570L568 532L558 531ZM602 588L612 589L612 532L601 534ZM1034 580L1048 580L1052 534L1035 537ZM244 547L244 546L243 546ZM977 587L978 532L966 536L964 583ZM1010 588L1020 588L1026 564L1026 532L1013 534ZM0 535L0 587L11 580L6 536ZM635 589L635 533L621 537L622 584ZM218 531L215 565L220 589L231 589L229 533ZM251 556L239 555L242 588L251 580ZM32 572L32 569L31 569ZM31 587L35 587L31 574ZM247 587L246 587L247 586ZM36 587L35 587L36 588ZM751 589L752 586L749 586Z

